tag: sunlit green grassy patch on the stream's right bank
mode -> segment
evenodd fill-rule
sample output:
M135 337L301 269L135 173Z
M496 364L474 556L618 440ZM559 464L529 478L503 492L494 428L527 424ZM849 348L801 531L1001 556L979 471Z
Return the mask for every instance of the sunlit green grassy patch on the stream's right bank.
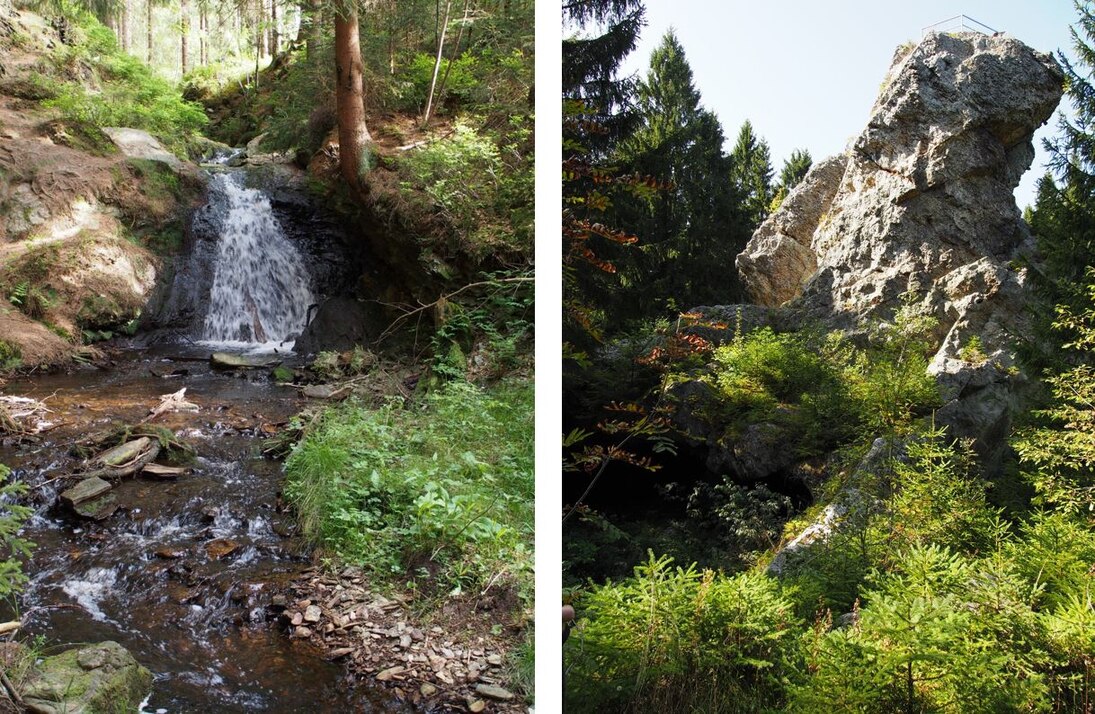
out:
M531 380L343 404L289 456L286 494L312 541L380 581L530 597L532 416Z

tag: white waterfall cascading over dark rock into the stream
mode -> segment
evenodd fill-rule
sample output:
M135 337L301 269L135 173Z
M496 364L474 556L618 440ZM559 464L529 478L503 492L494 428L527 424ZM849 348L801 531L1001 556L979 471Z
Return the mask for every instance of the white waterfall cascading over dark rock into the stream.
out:
M201 339L249 348L293 339L304 329L314 296L269 198L245 188L238 173L216 176L209 189L222 194L227 215Z

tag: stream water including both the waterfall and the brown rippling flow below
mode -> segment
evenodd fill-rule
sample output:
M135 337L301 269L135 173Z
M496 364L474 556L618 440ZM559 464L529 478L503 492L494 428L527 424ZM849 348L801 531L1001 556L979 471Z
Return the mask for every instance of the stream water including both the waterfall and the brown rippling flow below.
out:
M270 350L303 327L314 299L269 201L237 173L215 176L224 210L209 312L192 331L237 352ZM221 272L223 268L223 273ZM257 326L261 325L261 330ZM33 441L0 441L0 463L36 491L24 536L36 543L25 572L24 634L51 645L114 640L151 669L146 712L389 712L404 705L348 681L307 643L279 632L273 594L311 567L280 502L281 469L260 452L270 425L303 406L268 370L210 369L201 342L117 345L108 369L13 379L9 394L44 400L58 426ZM175 481L115 484L119 509L82 520L56 502L57 476L78 472L70 447L112 424L136 424L160 396L186 388L197 413L166 426L197 452ZM210 543L231 541L221 555ZM219 542L223 542L220 540Z

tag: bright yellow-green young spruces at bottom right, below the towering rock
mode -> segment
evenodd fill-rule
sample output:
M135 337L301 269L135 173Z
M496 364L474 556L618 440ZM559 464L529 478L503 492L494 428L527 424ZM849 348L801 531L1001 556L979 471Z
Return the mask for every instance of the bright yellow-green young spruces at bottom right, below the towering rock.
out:
M914 545L896 563L852 624L806 636L791 711L1049 711L1050 655L1006 561Z

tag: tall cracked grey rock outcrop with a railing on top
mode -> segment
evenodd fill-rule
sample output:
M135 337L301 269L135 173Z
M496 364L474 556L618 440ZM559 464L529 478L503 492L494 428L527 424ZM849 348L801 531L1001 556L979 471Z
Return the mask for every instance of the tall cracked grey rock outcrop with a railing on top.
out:
M1011 390L960 353L977 336L1006 370L1026 332L1029 293L1015 260L1033 241L1013 191L1062 81L1052 57L999 34L931 34L899 48L867 127L817 164L738 256L750 298L851 327L891 319L911 291L938 320L932 371L945 396ZM1008 398L976 401L992 413L955 418L956 436L1000 428Z

